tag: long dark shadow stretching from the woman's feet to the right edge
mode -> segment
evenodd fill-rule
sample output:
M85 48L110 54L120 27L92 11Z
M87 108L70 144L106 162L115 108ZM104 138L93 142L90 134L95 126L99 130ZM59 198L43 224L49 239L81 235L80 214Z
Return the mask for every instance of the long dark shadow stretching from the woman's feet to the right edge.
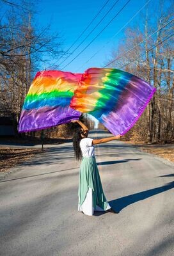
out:
M109 205L111 205L111 207L116 212L120 212L120 211L122 211L123 208L125 208L131 204L134 204L141 200L145 200L146 198L148 198L150 196L157 195L159 193L162 193L162 192L167 191L172 188L174 188L174 181L169 182L166 185L161 186L159 188L153 188L153 189L142 191L142 192L139 192L139 193L136 193L133 195L123 196L121 198L111 200L111 201L109 201ZM106 214L106 213L107 212L95 212L95 215L100 216L100 215Z

